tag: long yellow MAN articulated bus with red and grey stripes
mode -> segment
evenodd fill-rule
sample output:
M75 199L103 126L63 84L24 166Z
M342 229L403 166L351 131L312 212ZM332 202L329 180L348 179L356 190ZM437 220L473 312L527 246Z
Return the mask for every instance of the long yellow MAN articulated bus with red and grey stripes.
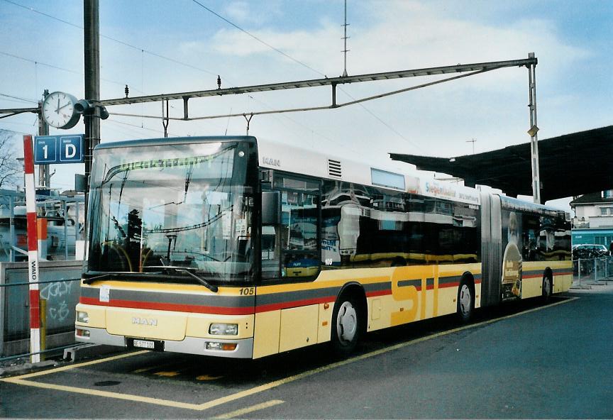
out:
M99 145L77 341L349 353L368 331L568 290L563 211L394 163L249 136Z

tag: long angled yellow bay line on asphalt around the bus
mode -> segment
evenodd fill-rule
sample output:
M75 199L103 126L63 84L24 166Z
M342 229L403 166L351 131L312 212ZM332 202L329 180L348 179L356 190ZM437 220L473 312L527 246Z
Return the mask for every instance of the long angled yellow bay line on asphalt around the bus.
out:
M453 328L453 329L448 330L448 331L441 331L440 333L432 334L431 336L415 338L414 340L411 340L411 341L406 341L404 343L399 343L399 344L396 344L394 346L382 348L380 350L375 350L375 351L372 351L370 353L365 353L363 355L358 355L358 356L355 356L353 358L349 358L349 359L346 359L346 360L341 360L340 362L331 363L330 365L316 367L315 369L307 370L306 372L302 372L302 373L299 373L297 375L292 375L292 376L285 377L285 378L280 379L280 380L275 380L275 381L272 381L272 382L268 382L267 384L260 385L258 387L253 387L253 388L250 388L250 389L245 389L244 391L236 392L234 394L227 395L226 397L221 397L221 398L218 398L218 399L213 399L213 400L211 400L209 402L204 402L202 404L189 404L189 403L185 403L185 402L170 401L170 400L167 400L167 399L140 397L138 395L133 395L133 394L120 394L118 392L100 391L99 389L67 387L65 385L44 384L44 383L40 383L40 382L33 382L33 381L23 380L23 378L26 378L26 377L41 376L41 375L46 375L46 374L51 373L51 372L60 372L60 371L64 371L64 370L69 370L69 369L72 369L74 367L82 367L82 366L86 366L86 365L94 365L96 363L102 363L102 362L105 362L105 361L116 360L116 359L119 359L119 358L126 358L126 357L130 357L132 355L137 355L137 354L145 353L145 351L148 351L148 350L143 350L141 352L136 352L136 353L128 353L127 355L118 355L118 356L114 356L112 358L106 358L106 359L101 359L101 360L93 360L92 362L78 363L77 365L57 367L56 369L45 370L44 372L31 373L31 374L28 374L28 375L21 375L21 376L17 376L17 377L7 378L7 379L4 379L4 380L0 380L0 382L9 382L9 383L17 384L17 385L26 385L26 386L30 386L30 387L39 387L39 388L45 388L45 389L55 389L55 390L67 391L67 392L76 392L78 394L89 394L89 395L96 395L96 396L99 396L99 397L126 399L128 401L146 402L148 404L158 404L158 405L163 405L163 406L167 406L167 407L176 407L176 408L192 409L192 410L202 411L202 410L210 409L212 407L219 406L221 404L226 404L226 402L236 401L237 399L241 399L243 397L248 397L248 396L253 395L253 394L258 394L259 392L267 391L268 389L279 387L280 385L285 385L285 384L288 384L290 382L301 380L301 379L303 379L305 377L316 375L316 374L321 373L321 372L326 372L328 370L336 369L336 367L341 367L341 366L344 366L344 365L348 365L350 363L358 362L360 360L365 360L365 359L368 359L368 358L372 358L372 357L375 357L377 355L382 355L382 354L385 354L385 353L389 353L390 351L399 350L400 348L412 346L414 344L422 343L424 341L429 341L429 340L431 340L433 338L447 336L449 334L457 333L458 331L464 331L464 330L467 330L469 328L475 328L477 326L484 326L484 325L488 325L488 324L493 324L493 323L495 323L497 321L502 321L503 319L510 319L510 318L514 318L516 316L520 316L520 315L524 315L524 314L529 314L530 312L540 311L541 309L547 309L547 308L551 308L552 306L558 306L560 304L565 304L565 303L568 303L568 302L573 302L573 301L575 301L577 299L579 299L579 298L578 297L573 297L573 298L566 299L566 300L563 300L563 301L560 301L560 302L556 302L554 304L549 304L547 306L539 306L539 307L536 307L536 308L533 308L533 309L528 309L527 311L518 312L517 314L511 314L511 315L507 315L507 316L502 316L502 317L496 318L496 319L489 319L487 321L477 322L476 324L460 326L458 328Z

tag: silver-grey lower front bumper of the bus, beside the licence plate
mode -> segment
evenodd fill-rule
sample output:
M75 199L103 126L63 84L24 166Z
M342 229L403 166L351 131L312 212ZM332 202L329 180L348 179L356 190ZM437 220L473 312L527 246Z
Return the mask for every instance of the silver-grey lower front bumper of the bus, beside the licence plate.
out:
M91 328L88 326L77 326L79 329L89 331L89 337L74 336L80 343L105 344L107 346L126 347L127 339L125 336L109 334L105 328ZM140 337L128 337L140 338ZM146 340L146 338L144 338ZM234 350L207 350L206 343L236 343ZM214 356L217 358L237 358L250 359L253 356L253 338L242 338L238 340L223 340L219 338L197 338L185 337L182 341L164 341L164 351L173 353L188 353L197 355Z

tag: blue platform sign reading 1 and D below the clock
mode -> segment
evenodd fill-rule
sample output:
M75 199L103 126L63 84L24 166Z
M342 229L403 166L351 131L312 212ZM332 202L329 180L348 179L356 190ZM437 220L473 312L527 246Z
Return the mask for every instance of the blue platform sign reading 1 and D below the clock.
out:
M57 163L82 163L83 134L70 136L35 136L34 163L55 165Z

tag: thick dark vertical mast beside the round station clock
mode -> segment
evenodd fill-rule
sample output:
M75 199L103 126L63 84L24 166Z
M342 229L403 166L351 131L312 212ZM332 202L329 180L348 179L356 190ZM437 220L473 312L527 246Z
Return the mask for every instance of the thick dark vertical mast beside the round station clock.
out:
M85 99L90 104L100 100L99 0L83 1ZM100 110L84 115L85 123L85 217L89 196L89 174L92 172L92 149L100 143Z

